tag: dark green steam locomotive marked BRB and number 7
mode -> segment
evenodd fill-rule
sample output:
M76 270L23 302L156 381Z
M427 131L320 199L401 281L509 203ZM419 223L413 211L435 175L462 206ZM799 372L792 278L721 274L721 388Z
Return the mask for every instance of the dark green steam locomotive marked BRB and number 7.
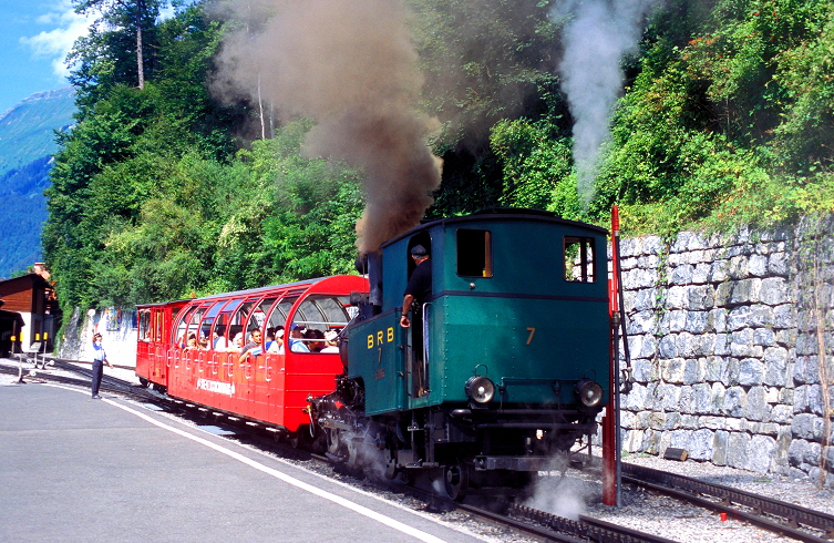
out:
M609 382L606 234L492 209L368 255L370 293L354 296L341 338L346 372L310 399L329 453L360 463L363 448L381 451L387 477L431 470L457 498L523 486L594 433ZM413 253L428 253L431 284L409 308Z

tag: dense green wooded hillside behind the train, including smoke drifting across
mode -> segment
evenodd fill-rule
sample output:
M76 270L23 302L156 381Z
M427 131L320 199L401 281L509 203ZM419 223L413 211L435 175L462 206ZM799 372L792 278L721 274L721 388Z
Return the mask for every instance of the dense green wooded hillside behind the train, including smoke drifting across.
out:
M350 273L492 206L634 233L834 208L831 0L167 3L74 0L100 21L47 191L65 315Z

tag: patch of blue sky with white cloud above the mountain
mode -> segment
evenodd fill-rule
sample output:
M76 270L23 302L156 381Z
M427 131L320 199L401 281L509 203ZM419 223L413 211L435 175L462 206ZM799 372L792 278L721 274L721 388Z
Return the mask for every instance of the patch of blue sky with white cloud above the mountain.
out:
M68 84L63 60L90 22L70 0L0 0L0 114Z

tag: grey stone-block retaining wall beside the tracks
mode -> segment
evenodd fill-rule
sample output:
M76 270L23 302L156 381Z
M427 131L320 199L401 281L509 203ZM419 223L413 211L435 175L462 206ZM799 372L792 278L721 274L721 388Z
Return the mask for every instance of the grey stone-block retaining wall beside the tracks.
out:
M622 449L681 448L833 485L834 216L624 239L621 255L632 365Z

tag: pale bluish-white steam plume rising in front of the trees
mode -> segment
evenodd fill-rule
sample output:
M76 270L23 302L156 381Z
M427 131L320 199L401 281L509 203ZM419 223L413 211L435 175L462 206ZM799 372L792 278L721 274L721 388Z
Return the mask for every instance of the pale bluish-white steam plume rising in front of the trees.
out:
M554 18L570 18L558 72L575 121L577 191L586 203L594 195L599 151L610 137L611 112L622 92L620 61L637 48L646 16L658 2L567 0L554 9Z

